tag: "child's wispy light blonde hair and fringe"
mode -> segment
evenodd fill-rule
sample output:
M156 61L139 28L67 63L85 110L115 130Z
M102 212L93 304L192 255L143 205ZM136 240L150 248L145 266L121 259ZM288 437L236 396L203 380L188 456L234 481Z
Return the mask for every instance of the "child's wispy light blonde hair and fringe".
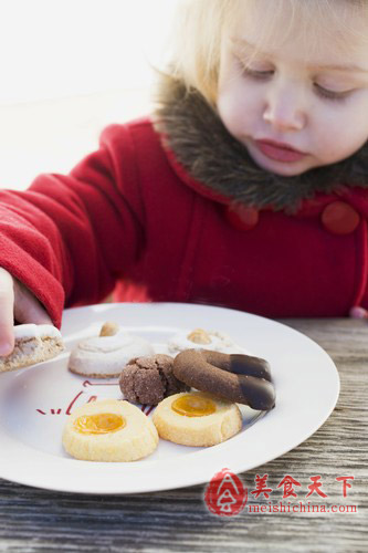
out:
M354 29L349 28L348 14L353 10L357 12L361 9L368 12L368 0L269 1L272 6L272 13L267 14L272 17L267 22L265 21L263 40L270 35L274 23L280 21L277 15L284 13L286 7L290 9L291 15L285 22L287 29L283 29L285 40L292 31L294 22L303 20L304 34L307 40L311 41L311 33L316 34L316 27L319 23L327 35L330 33L334 41L339 40L346 43L347 33L355 33ZM188 91L198 90L211 106L214 106L217 101L221 43L224 31L235 24L239 19L239 9L245 2L251 8L257 0L183 0L177 12L174 30L174 56L170 60L169 73L171 77L182 81ZM312 4L314 11L311 9ZM339 7L346 6L346 17L341 18L341 13L337 13L337 4ZM364 38L368 42L367 33ZM261 48L260 44L259 48Z

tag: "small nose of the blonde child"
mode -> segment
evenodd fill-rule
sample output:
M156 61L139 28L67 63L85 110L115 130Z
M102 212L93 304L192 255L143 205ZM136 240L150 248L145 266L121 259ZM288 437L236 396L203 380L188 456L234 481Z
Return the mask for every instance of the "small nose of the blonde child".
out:
M263 118L277 131L302 131L306 122L303 95L283 88L272 91L266 98Z

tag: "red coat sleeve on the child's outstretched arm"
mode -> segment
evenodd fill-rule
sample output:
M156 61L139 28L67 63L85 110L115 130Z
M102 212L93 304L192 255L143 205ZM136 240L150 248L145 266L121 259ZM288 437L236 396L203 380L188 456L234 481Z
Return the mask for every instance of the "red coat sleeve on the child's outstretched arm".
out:
M70 175L0 191L0 267L56 326L64 306L102 301L139 258L144 215L134 156L128 127L114 125Z

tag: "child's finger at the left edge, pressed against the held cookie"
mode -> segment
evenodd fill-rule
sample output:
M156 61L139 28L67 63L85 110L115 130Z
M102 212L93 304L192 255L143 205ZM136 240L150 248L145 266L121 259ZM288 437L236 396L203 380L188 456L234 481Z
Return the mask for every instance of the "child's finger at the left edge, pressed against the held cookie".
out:
M9 355L14 348L13 334L13 279L0 268L0 355Z

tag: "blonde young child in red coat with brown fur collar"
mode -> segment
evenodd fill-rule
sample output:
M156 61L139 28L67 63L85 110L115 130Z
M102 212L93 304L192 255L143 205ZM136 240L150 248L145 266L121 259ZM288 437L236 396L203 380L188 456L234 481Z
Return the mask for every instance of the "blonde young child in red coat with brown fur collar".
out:
M0 192L0 354L64 306L368 307L368 3L192 0L151 118Z

